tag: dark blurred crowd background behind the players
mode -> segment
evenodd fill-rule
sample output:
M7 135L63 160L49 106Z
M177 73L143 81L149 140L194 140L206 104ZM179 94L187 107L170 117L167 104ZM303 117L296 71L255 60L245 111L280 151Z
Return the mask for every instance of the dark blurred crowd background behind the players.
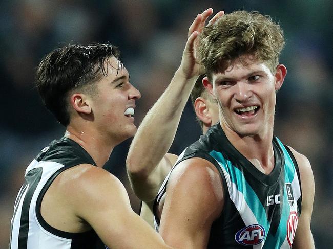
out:
M332 248L332 5L330 0L2 0L0 248L8 247L14 200L25 168L65 131L34 89L41 58L69 42L116 44L132 84L142 94L135 110L139 125L179 66L189 25L208 7L215 13L259 11L284 29L286 47L280 62L288 73L278 93L275 135L310 160L316 182L312 231L317 248ZM189 102L171 152L179 154L200 133ZM121 179L138 212L139 201L124 164L130 142L116 147L106 168Z

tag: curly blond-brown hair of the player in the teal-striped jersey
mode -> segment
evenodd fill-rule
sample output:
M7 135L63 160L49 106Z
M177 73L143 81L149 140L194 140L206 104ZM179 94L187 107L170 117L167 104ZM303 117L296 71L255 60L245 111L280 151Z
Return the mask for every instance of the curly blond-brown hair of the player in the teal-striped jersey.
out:
M258 12L235 11L206 26L199 36L198 56L207 77L224 72L235 60L264 62L275 74L284 47L283 30L269 16ZM246 57L248 59L248 57Z

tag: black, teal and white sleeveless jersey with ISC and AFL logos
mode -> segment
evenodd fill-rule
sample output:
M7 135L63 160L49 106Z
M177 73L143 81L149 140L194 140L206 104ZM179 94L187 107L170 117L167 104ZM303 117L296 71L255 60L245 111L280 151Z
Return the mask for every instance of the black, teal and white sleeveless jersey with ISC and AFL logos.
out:
M201 157L213 163L222 177L224 207L212 224L207 248L292 246L301 213L300 175L289 148L276 137L272 143L275 167L268 175L259 171L228 141L219 124L212 126L179 156L174 167L186 159ZM170 173L155 199L155 210L166 192L169 176ZM154 222L158 230L155 210Z

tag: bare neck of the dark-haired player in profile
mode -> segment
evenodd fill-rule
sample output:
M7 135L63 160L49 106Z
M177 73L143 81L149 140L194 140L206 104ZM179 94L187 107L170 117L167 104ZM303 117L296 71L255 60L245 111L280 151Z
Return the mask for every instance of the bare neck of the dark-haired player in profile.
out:
M83 128L77 128L83 127ZM65 137L82 146L93 158L98 167L103 167L109 160L116 144L107 141L105 137L91 127L68 125Z

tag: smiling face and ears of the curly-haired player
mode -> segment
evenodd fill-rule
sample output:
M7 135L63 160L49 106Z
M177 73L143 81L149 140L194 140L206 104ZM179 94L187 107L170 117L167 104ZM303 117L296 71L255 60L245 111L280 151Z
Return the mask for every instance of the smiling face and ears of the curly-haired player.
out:
M286 68L279 64L273 74L263 62L249 57L245 61L235 60L224 72L214 73L212 82L205 78L204 85L218 101L225 131L264 135L274 124L276 90L282 86Z

